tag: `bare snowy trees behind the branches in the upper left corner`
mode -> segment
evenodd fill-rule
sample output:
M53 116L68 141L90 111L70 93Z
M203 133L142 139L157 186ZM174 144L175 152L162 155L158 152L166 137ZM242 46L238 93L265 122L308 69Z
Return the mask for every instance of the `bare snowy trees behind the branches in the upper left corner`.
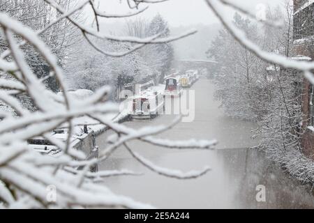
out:
M68 10L75 6L76 1L59 0L58 4ZM61 14L54 10L49 4L42 0L28 1L28 0L3 0L0 6L1 11L8 12L10 16L21 21L23 24L31 27L34 30L40 31L54 21L55 17ZM80 14L75 15L76 18ZM52 24L49 31L40 33L40 38L50 46L52 52L57 56L58 63L63 66L68 54L68 47L77 41L78 30L68 20L60 20ZM3 36L0 36L0 41ZM8 48L5 42L1 45L1 50ZM45 62L43 56L36 52L31 45L24 45L23 51L27 52L26 59L29 61L31 69L43 82L53 91L58 91L59 86L54 77L50 77L50 67Z

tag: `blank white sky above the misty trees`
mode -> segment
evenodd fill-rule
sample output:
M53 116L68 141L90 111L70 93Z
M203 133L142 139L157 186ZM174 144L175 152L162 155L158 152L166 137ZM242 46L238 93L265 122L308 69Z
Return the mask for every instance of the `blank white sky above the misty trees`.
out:
M259 4L269 5L271 7L282 5L285 0L232 0L241 3L245 8L256 12ZM126 0L98 0L100 9L108 13L124 13L128 10ZM169 0L162 3L150 4L149 9L140 15L140 17L151 18L160 13L170 26L184 26L191 24L213 24L218 20L211 13L204 0ZM230 10L230 18L233 13ZM115 22L117 19L105 19L104 22Z

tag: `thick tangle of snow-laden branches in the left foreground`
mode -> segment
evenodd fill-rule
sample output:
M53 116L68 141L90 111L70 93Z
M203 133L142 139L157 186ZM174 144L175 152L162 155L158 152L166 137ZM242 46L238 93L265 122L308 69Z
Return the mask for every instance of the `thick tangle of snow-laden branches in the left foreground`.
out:
M47 4L43 5L44 1ZM70 4L66 4L68 3L67 0L64 2L58 1L59 4L57 4L53 0L38 0L42 6L38 10L43 14L37 15L38 12L34 10L29 15L20 17L20 20L18 20L19 17L13 18L11 14L8 14L9 9L7 12L1 10L0 13L1 43L3 42L5 45L1 51L0 70L6 75L6 78L0 78L0 102L1 106L10 107L14 113L9 114L9 112L3 111L0 114L1 208L153 208L147 204L114 194L104 185L96 184L96 181L101 180L101 178L137 176L139 173L129 170L107 170L94 173L89 171L89 167L100 160L107 159L113 151L132 139L167 148L184 149L213 149L216 141L198 141L195 139L170 141L153 137L155 134L172 128L180 121L180 118L167 126L140 130L133 130L119 123L114 123L110 118L117 114L118 107L108 100L110 89L101 87L84 100L75 98L69 93L64 82L63 69L61 68L62 60L56 52L60 43L70 38L70 33L76 33L77 30L83 33L88 43L98 52L114 57L132 54L145 45L170 43L189 36L195 31L188 31L179 36L167 36L164 31L144 38L112 36L82 24L75 15L84 7L91 6L96 17L130 17L142 13L147 7L137 9L133 13L116 15L100 12L94 6L94 1L91 0L80 1L73 8L64 8L63 5L70 6ZM161 1L133 1L136 8L140 3L158 2ZM61 3L64 4L61 5ZM32 6L30 2L26 2L21 7L28 10ZM51 8L56 10L51 10ZM10 12L12 12L11 10L14 11L14 8L10 8ZM40 20L41 17L45 16L49 17L49 20L45 21L43 26L31 27L21 22L33 18ZM75 29L59 33L59 29L68 29L70 25ZM52 35L55 35L54 38ZM60 36L61 39L59 39ZM55 38L57 40L54 42ZM124 51L117 52L112 47L112 51L106 52L94 42L97 38L107 41L106 43L114 42L118 46L124 45L121 48L117 47L124 49ZM47 40L50 41L48 41L50 45L47 45ZM128 45L126 46L126 44ZM63 59L70 60L69 53L64 53L62 56ZM33 66L38 65L37 62L43 66L46 76L41 76L33 68ZM132 57L130 57L130 63L133 63ZM56 80L59 93L45 85L45 81L52 77ZM23 104L19 96L28 98L32 105L31 109ZM82 116L94 118L98 123L119 133L112 144L99 151L98 159L89 157L82 151L73 148L71 139L77 125L75 118ZM53 130L61 127L67 129L65 140L54 138L51 134ZM27 141L33 137L40 137L40 139L49 141L51 144L49 146L59 149L58 155L42 155L31 149ZM200 177L209 171L209 168L205 168L202 171L183 173L156 167L137 153L133 153L131 148L128 147L128 150L145 167L164 176L189 179ZM49 192L47 189L50 187L55 188L60 194L57 200L47 199Z

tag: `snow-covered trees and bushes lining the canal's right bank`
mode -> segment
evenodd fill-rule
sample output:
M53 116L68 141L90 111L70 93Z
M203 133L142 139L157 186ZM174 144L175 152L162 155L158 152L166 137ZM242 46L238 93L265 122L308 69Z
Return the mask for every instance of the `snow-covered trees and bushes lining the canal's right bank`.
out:
M269 8L265 14L268 21L282 21L283 26L260 24L239 14L233 23L262 50L292 58L292 14L293 7L287 1L284 9ZM302 182L314 183L313 160L302 153L306 126L301 109L301 72L263 59L227 29L220 30L207 55L218 62L213 77L215 97L225 113L257 122L259 127L252 132L252 137L260 139L257 148Z

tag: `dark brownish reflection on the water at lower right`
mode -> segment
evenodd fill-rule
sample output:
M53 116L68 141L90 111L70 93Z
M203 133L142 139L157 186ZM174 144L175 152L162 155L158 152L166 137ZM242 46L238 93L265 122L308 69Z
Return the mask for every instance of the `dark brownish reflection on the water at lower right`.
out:
M219 151L224 169L234 185L234 208L314 208L309 185L301 185L283 169L251 149ZM265 202L255 199L263 185Z

